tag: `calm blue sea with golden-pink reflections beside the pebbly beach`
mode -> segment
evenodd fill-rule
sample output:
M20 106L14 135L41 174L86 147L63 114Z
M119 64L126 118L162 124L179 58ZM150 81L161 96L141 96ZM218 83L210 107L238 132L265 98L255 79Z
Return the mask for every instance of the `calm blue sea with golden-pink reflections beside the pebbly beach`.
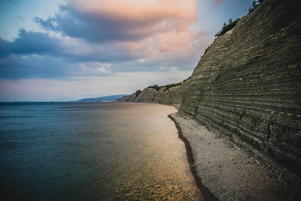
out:
M172 106L0 103L0 199L200 200Z

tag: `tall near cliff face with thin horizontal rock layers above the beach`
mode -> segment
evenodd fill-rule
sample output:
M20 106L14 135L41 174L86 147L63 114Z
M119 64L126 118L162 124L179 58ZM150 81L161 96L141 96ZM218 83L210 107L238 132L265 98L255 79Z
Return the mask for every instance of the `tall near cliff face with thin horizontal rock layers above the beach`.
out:
M217 38L194 69L180 108L272 167L282 166L277 171L297 183L301 169L299 8L299 0L266 0Z

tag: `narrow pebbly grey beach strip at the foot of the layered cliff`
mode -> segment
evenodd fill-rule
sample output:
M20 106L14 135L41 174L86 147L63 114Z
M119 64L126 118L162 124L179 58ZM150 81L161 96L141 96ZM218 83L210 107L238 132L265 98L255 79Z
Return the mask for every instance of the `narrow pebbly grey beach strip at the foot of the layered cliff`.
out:
M171 114L187 144L192 172L208 200L287 200L284 181L248 151L193 119ZM190 152L191 154L190 155Z

